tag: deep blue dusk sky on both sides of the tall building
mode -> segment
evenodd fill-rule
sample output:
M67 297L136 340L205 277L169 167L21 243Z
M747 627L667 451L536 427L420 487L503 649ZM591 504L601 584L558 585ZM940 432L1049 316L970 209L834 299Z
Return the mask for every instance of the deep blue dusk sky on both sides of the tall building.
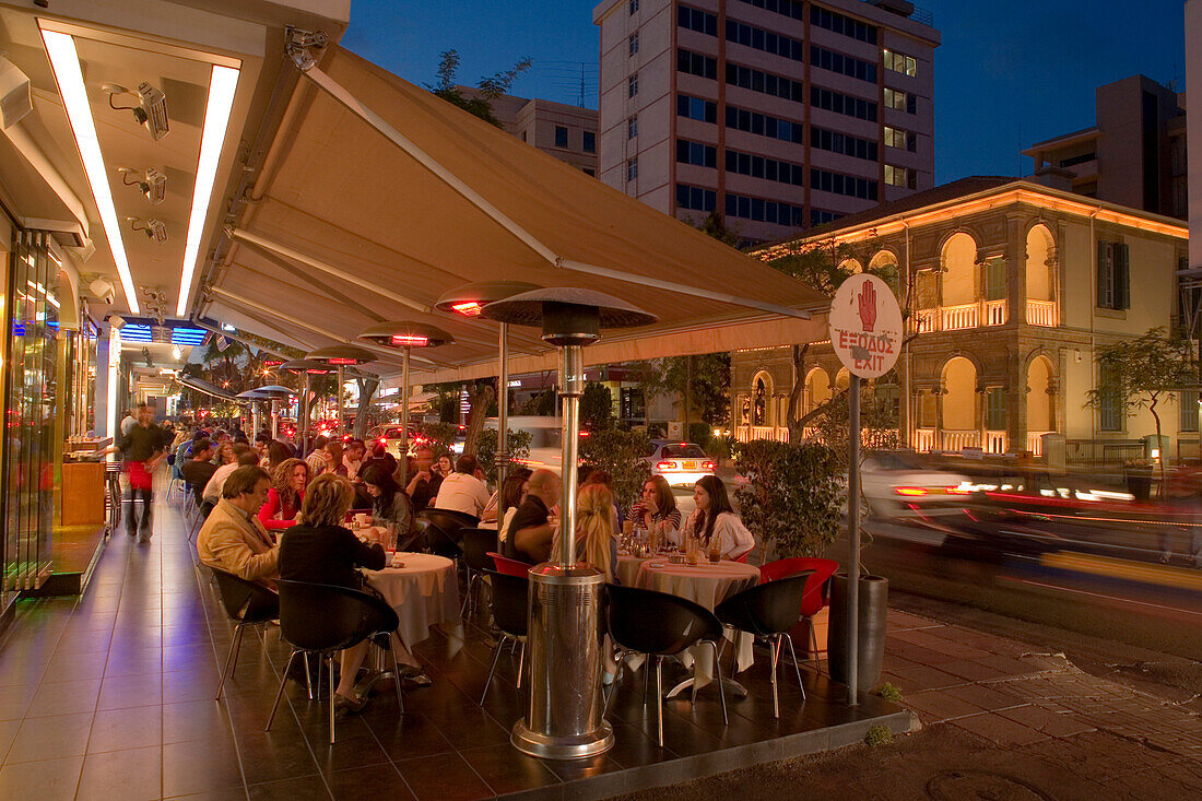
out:
M439 53L459 83L530 57L513 94L596 108L599 29L591 0L352 0L343 44L415 83ZM1182 0L924 0L935 51L935 179L1016 174L1023 147L1094 124L1094 89L1136 73L1185 87ZM1030 172L1030 159L1022 170Z

